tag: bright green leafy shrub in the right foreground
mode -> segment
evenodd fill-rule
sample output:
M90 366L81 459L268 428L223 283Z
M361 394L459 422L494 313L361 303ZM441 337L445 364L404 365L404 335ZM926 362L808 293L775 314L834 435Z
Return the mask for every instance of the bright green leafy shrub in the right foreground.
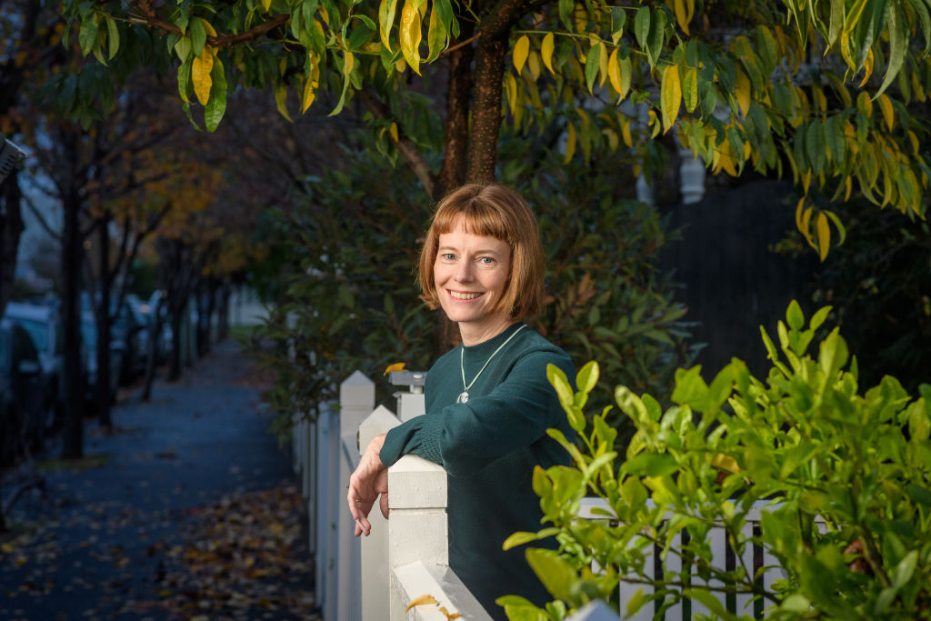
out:
M837 329L808 353L829 311L819 310L806 328L799 305L790 304L778 323L778 349L762 331L773 363L765 381L738 359L710 385L699 367L681 370L676 405L666 412L650 395L619 386L617 404L637 428L619 467L616 431L603 414L592 425L583 415L597 364L578 373L575 394L551 369L584 448L550 431L574 464L537 468L533 490L548 524L515 533L506 547L556 536L558 551L527 550L556 601L542 610L503 598L510 618L560 619L594 598L616 607L622 575L654 587L633 598L626 614L687 598L717 617L753 614L728 612L713 597L718 591L750 594L779 619L931 617L931 385L912 399L887 376L858 392L857 361ZM614 520L576 520L586 495L603 498ZM744 528L754 506L765 506L758 534ZM764 588L753 567L713 566L708 532L715 527L725 530L737 559L748 546L762 547L787 579ZM677 543L681 532L687 544ZM664 560L683 559L685 570L651 577L644 552L654 545ZM593 562L600 572L592 572ZM690 586L690 574L702 582ZM708 587L709 579L722 586Z

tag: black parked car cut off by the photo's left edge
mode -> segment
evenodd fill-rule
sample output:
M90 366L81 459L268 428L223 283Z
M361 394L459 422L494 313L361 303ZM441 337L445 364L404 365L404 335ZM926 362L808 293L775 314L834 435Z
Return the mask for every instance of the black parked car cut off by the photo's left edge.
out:
M42 446L48 407L46 378L29 332L0 319L0 465L13 463L23 446Z

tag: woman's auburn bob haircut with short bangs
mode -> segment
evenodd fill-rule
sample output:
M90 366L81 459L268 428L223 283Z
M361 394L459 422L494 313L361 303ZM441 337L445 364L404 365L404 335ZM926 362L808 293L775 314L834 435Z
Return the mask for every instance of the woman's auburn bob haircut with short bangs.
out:
M420 253L420 287L424 291L421 299L431 309L439 307L433 278L439 236L452 233L460 218L467 233L492 236L510 246L510 274L505 293L492 311L504 309L515 321L536 316L543 310L545 297L540 229L523 197L497 183L463 185L439 201Z

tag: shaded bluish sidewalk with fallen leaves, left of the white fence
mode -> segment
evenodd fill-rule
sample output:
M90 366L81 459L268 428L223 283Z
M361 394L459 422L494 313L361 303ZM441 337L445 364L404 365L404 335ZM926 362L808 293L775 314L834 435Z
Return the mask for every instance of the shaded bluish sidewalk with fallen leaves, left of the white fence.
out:
M135 390L116 430L85 427L86 465L47 471L0 535L0 619L313 618L290 457L235 342ZM57 457L57 452L52 457Z

